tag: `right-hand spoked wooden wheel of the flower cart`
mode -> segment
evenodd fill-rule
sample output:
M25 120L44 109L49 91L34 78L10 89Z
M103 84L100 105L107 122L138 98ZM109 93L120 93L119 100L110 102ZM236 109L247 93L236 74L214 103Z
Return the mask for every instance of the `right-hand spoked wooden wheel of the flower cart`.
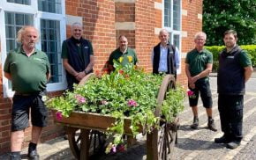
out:
M166 93L170 89L175 88L175 77L172 75L164 76L158 93L157 107L154 113L156 117L161 116L162 103L166 97ZM172 159L174 145L177 140L177 122L178 119L172 123L160 122L160 128L155 128L151 134L147 134L148 160Z

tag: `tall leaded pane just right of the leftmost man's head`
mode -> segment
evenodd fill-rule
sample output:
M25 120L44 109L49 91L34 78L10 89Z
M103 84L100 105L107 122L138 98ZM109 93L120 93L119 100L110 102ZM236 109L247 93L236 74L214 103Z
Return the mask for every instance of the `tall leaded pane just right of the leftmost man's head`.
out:
M63 82L59 21L41 19L41 50L49 57L51 69L49 83Z

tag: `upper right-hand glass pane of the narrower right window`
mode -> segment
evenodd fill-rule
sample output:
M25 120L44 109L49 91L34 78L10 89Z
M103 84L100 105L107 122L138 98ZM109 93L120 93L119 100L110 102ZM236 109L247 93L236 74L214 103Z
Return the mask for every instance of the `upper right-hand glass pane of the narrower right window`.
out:
M180 30L180 0L173 0L173 29Z

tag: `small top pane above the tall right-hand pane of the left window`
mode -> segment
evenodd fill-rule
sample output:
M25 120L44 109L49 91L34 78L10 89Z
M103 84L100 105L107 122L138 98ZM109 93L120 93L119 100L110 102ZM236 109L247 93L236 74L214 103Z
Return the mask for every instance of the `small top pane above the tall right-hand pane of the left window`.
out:
M61 14L61 0L38 0L38 10Z

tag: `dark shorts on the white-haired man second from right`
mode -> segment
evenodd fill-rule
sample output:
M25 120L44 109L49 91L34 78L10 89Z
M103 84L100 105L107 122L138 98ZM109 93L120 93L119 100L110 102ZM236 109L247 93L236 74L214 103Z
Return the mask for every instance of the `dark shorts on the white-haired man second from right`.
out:
M198 105L199 96L202 99L205 108L211 108L213 106L212 92L210 89L210 83L206 80L198 80L195 83L195 88L191 89L194 92L192 96L189 96L190 106Z

